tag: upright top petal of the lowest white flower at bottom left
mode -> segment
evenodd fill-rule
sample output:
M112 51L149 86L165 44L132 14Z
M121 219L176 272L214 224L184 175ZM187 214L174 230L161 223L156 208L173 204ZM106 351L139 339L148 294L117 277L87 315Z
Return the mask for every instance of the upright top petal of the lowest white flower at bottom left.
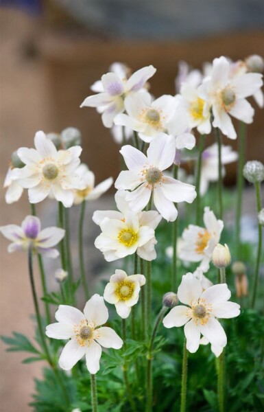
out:
M88 322L94 322L95 325L104 325L108 320L108 308L104 303L104 297L97 293L86 302L84 315Z

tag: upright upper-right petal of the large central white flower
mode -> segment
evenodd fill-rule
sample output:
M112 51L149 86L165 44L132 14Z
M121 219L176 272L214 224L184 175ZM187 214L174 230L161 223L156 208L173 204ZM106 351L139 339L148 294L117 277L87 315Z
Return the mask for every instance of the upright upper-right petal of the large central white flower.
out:
M172 165L176 152L176 139L165 133L158 133L147 149L147 159L151 165L165 170Z

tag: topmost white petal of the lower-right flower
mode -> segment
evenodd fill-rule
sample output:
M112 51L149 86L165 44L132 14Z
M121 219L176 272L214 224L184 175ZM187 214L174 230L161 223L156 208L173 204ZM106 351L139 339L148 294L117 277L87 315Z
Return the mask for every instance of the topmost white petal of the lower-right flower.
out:
M182 304L190 305L191 301L196 301L202 295L202 285L192 273L187 273L182 276L177 295Z

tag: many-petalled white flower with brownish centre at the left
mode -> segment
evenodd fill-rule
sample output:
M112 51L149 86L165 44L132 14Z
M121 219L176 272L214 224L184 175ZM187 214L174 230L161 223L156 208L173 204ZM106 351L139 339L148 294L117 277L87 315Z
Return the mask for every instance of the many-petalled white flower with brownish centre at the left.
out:
M51 194L64 207L71 207L73 190L85 188L85 183L76 174L82 148L73 146L68 150L57 150L41 131L36 133L34 143L36 149L18 150L25 167L13 169L11 179L28 189L30 203L41 202Z

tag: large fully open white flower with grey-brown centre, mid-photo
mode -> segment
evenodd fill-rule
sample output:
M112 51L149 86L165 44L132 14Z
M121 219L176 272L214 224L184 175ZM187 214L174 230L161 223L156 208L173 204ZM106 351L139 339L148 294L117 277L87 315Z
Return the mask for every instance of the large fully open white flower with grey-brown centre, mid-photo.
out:
M165 176L175 158L176 139L160 133L150 142L147 156L132 146L120 150L128 170L123 170L115 182L121 190L132 190L126 199L132 211L141 211L153 194L154 205L168 221L176 220L178 211L173 202L192 203L196 197L195 187ZM135 190L136 189L136 190Z

